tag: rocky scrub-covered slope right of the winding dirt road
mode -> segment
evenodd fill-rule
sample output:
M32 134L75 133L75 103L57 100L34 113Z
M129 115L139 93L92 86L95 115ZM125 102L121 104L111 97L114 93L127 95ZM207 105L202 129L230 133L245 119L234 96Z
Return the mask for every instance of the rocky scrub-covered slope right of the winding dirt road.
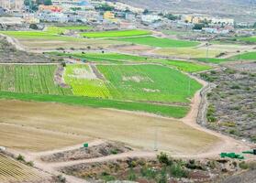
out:
M234 67L236 70L223 69L201 74L216 86L207 93L205 125L217 132L255 143L256 75L240 71L239 65ZM244 70L244 65L241 68Z

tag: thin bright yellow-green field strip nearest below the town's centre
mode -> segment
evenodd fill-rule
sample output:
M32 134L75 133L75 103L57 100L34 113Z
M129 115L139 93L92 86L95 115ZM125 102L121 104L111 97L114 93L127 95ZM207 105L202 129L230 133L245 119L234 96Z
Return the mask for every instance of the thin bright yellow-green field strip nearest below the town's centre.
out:
M85 32L81 33L81 36L86 38L118 38L118 37L134 37L150 35L148 30L115 30L115 31L103 31L103 32Z

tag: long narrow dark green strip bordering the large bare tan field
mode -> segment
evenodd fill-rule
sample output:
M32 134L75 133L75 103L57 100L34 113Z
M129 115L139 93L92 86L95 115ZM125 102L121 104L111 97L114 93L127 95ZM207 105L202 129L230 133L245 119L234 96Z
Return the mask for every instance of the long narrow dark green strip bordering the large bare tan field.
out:
M89 106L95 108L112 108L118 110L128 110L145 113L155 113L162 116L182 118L188 113L189 108L183 106L164 106L144 102L121 102L114 100L104 100L98 98L63 96L49 94L0 92L1 99L35 101L35 102L60 102L71 105Z

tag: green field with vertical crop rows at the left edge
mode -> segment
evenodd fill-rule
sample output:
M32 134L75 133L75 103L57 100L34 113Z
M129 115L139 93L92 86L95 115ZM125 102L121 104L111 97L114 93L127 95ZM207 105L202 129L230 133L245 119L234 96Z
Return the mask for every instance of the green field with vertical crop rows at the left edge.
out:
M0 91L44 94L72 94L53 81L57 66L0 65Z

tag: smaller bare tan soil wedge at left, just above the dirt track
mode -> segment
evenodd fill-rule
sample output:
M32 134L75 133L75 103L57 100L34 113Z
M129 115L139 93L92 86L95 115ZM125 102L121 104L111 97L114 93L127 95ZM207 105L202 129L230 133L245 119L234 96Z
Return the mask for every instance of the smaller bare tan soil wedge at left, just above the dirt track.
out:
M13 117L17 118L16 114ZM19 120L22 121L20 118ZM23 120L26 121L26 116ZM90 139L85 136L66 135L21 125L2 124L3 121L5 120L1 118L0 145L17 150L45 151L67 145L82 144Z

